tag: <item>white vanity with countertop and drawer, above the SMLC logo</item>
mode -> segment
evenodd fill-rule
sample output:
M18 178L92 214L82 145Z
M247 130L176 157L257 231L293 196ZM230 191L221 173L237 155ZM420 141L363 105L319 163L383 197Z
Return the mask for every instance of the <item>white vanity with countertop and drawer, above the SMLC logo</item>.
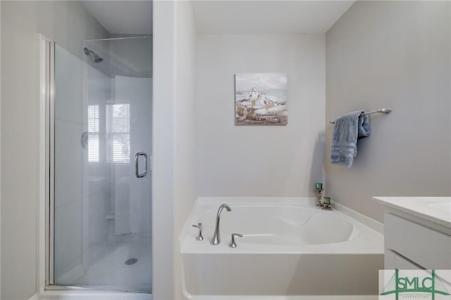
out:
M451 270L451 197L373 200L385 211L385 270Z

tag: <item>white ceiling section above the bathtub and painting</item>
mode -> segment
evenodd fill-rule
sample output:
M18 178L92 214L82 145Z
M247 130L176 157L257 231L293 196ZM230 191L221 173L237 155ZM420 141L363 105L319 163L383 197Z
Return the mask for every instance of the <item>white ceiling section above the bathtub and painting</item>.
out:
M355 1L193 1L203 34L324 34Z

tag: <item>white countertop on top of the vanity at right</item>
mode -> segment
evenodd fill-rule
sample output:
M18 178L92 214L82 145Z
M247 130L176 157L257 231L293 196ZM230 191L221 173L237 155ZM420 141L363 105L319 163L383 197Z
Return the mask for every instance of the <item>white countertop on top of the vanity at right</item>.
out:
M373 200L451 228L451 197L373 197Z

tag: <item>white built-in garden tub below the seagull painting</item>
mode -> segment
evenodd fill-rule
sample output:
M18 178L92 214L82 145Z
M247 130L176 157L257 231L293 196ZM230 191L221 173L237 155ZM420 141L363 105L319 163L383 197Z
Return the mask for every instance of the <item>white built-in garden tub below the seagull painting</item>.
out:
M232 211L223 209L221 244L213 246L222 203ZM202 242L191 226L197 223ZM234 249L228 247L232 233L243 235ZM187 299L364 299L378 294L383 235L340 211L316 207L312 198L204 197L180 236L180 260Z

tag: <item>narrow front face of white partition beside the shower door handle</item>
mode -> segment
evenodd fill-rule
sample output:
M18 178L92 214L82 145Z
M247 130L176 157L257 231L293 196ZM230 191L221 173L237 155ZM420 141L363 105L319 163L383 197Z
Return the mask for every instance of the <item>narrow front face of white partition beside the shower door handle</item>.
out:
M173 299L175 4L154 2L152 279L154 299Z

